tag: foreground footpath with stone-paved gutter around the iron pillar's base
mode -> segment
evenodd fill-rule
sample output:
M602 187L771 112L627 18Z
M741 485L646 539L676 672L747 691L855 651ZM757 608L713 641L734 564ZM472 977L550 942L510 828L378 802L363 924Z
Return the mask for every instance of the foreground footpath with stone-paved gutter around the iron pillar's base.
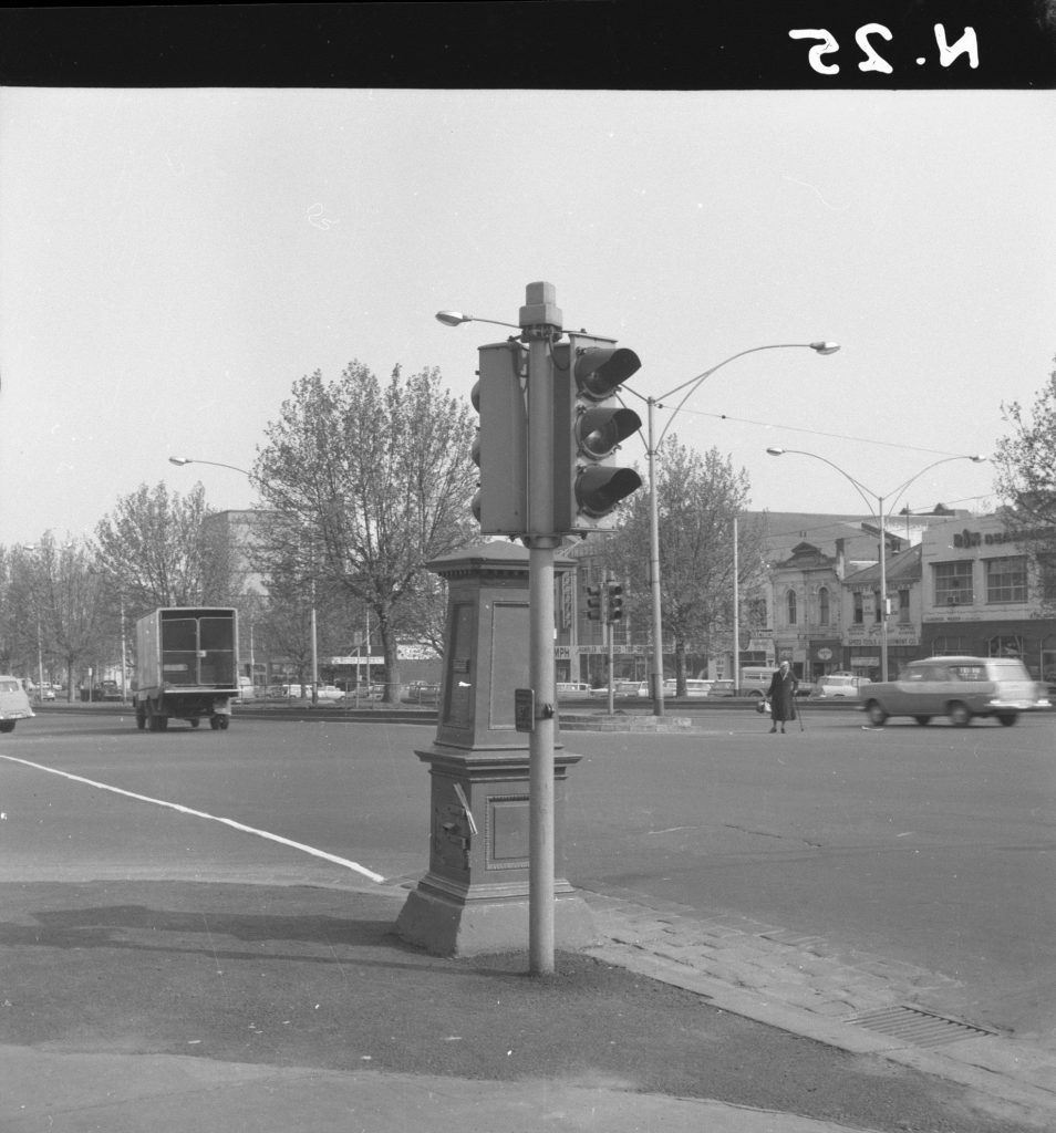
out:
M531 977L403 944L406 895L0 884L0 1131L1056 1127L1051 1051L868 1025L912 973L585 894L597 943Z

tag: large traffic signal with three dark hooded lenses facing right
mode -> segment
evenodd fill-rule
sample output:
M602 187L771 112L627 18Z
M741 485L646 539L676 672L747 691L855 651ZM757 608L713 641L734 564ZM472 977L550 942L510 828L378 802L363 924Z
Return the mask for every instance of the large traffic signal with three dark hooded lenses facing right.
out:
M641 367L613 339L571 332L554 350L554 534L615 526L620 501L641 487L632 468L615 463L641 418L621 406L620 385Z

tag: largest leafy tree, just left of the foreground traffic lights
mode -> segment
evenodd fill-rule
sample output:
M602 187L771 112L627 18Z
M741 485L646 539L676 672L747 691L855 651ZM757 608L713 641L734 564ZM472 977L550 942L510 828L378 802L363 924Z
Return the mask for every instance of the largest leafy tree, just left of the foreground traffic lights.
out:
M367 606L391 695L425 563L471 535L469 408L436 369L404 380L397 367L383 387L352 361L335 382L316 372L295 383L265 435L254 483L273 514L258 566L335 583Z

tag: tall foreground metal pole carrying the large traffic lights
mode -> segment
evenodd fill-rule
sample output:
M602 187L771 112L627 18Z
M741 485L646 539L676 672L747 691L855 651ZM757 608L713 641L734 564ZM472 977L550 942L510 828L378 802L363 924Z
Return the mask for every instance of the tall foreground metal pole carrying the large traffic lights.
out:
M554 970L554 389L561 334L552 283L529 283L520 326L528 342L528 675L536 701L528 738L528 964Z

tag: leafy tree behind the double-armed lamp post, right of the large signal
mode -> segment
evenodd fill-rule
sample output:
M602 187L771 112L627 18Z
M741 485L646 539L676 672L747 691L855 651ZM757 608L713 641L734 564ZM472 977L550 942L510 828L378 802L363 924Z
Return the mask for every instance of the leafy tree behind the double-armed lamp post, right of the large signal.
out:
M675 680L685 695L685 658L732 647L733 520L748 504L748 479L733 471L717 449L704 457L672 434L657 452L657 514L661 546L661 617L674 641ZM741 593L759 577L763 535L757 525L739 525L738 573ZM612 569L627 582L628 613L648 623L649 497L638 493L610 540ZM742 617L751 608L742 605Z

